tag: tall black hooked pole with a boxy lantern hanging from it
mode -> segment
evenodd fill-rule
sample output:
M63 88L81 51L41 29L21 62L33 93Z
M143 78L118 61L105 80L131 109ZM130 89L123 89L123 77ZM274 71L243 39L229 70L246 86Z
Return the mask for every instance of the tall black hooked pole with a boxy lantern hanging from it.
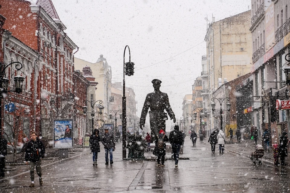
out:
M128 47L129 50L129 62L125 63L125 51L126 48ZM122 157L126 158L126 96L125 96L125 71L127 76L132 76L134 75L134 63L131 62L131 53L130 53L130 48L129 46L125 46L124 49L124 67L123 67L123 97L122 97ZM126 67L125 67L126 66Z

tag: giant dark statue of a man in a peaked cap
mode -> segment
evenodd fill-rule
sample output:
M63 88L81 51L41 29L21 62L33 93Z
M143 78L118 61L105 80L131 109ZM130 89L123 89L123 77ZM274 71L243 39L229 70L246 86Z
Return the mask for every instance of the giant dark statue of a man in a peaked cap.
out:
M168 119L167 113L170 119L173 119L174 123L176 122L174 112L172 111L169 104L168 95L159 90L161 86L161 81L158 79L154 79L152 83L154 87L154 92L147 94L140 117L140 128L143 130L147 112L150 107L149 116L151 128L151 143L156 141L156 138L161 129L165 132L165 120ZM166 109L167 113L164 112L164 109Z

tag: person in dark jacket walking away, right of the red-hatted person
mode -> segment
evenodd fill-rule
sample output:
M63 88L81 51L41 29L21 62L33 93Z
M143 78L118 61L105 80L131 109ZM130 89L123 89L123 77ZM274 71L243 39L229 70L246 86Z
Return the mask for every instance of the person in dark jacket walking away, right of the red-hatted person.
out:
M180 146L184 143L182 132L179 131L179 126L175 125L174 130L169 134L169 142L172 147L175 167L178 166Z

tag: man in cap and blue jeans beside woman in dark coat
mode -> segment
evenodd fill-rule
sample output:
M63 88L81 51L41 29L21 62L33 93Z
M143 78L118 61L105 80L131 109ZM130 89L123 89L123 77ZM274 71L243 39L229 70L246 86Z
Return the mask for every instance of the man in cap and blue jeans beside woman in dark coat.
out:
M108 128L105 128L105 134L102 137L101 141L105 148L105 165L109 165L108 153L110 153L110 164L113 164L113 151L115 150L115 140L114 136L109 133Z

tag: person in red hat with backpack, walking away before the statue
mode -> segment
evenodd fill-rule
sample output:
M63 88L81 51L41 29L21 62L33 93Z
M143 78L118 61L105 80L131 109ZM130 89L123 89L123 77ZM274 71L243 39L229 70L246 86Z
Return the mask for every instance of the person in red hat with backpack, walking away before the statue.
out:
M161 129L159 131L159 135L157 136L156 141L156 150L157 150L157 166L164 166L165 154L166 154L166 144L165 142L169 141L168 137L166 136L165 132Z

